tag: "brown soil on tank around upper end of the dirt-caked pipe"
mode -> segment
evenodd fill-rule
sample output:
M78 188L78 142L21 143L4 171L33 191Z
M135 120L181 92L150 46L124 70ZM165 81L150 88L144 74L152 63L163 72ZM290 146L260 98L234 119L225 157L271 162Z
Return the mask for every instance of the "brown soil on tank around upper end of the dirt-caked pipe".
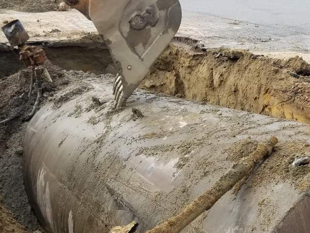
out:
M228 154L228 160L237 163L251 151L255 150L257 145L258 142L256 140L247 138L236 142L232 148L224 150L223 153ZM306 156L310 157L310 144L298 141L290 143L279 142L274 148L273 154L256 171L257 175L250 181L250 186L263 187L277 179L291 183L298 192L310 190L310 165L291 166L296 158ZM270 176L270 174L273 175Z

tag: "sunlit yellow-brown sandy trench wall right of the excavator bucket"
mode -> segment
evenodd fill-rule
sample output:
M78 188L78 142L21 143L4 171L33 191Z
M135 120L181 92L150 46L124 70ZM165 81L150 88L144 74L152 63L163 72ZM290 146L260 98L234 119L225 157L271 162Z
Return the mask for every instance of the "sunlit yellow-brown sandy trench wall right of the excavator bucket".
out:
M188 100L310 122L310 66L176 39L141 87Z

